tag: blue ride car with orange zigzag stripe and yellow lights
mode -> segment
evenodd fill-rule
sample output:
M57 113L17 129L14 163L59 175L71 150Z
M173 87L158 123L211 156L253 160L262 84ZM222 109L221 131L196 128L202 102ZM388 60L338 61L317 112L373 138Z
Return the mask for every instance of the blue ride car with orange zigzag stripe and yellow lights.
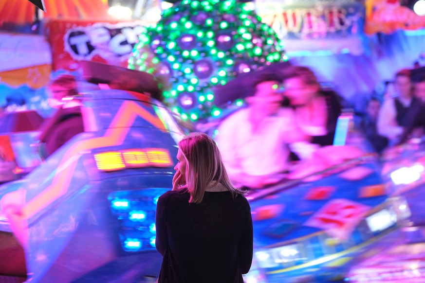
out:
M149 95L90 90L82 104L85 131L0 187L0 282L156 281L156 201L184 134Z

